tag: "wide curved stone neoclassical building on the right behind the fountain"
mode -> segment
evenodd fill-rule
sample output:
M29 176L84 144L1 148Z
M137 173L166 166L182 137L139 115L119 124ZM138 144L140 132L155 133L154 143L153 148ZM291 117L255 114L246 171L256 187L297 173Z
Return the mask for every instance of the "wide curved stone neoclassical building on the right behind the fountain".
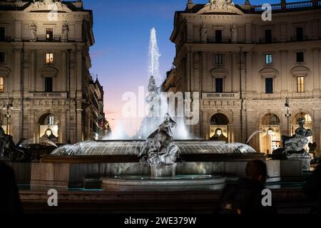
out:
M271 153L305 118L320 151L321 1L282 0L271 9L269 20L248 0L189 0L175 12L176 56L163 90L200 93L200 122L190 126L196 137L250 139Z

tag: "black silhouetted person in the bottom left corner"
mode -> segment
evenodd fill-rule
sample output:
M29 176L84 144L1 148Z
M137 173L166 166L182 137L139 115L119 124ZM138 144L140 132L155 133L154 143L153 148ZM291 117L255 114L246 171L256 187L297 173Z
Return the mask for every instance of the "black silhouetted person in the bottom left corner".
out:
M0 162L0 214L22 214L14 170Z

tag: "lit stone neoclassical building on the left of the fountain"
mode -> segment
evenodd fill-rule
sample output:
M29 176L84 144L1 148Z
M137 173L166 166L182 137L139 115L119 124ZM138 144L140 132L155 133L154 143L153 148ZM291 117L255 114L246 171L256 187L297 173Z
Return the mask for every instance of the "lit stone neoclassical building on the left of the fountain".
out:
M106 133L103 88L89 73L93 14L82 1L0 1L0 105L18 142Z

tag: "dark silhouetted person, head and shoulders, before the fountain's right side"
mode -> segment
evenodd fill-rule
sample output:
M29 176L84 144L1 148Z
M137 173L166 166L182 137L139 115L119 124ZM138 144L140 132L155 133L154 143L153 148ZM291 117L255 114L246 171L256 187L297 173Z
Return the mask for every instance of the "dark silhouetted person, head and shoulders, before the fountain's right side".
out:
M248 162L246 177L229 184L222 192L220 214L276 214L275 207L263 207L262 195L267 178L265 162Z

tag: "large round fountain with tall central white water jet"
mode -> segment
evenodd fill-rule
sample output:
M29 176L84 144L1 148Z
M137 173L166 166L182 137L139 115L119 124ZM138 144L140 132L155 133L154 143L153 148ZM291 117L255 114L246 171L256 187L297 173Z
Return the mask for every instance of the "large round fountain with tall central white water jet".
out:
M109 140L65 145L44 157L44 164L66 165L69 175L63 180L68 179L68 185L99 182L104 190L177 191L220 188L225 183L225 177L218 174L240 175L247 160L263 159L262 154L248 145L187 140L188 133L183 119L180 118L179 123L176 123L164 112L168 111L168 107L161 105L161 77L158 70L160 54L155 28L151 30L149 50L150 78L146 96L148 115L138 133L139 138L147 140ZM173 127L178 128L177 135L173 135ZM243 161L240 162L241 168L228 162L235 160Z

